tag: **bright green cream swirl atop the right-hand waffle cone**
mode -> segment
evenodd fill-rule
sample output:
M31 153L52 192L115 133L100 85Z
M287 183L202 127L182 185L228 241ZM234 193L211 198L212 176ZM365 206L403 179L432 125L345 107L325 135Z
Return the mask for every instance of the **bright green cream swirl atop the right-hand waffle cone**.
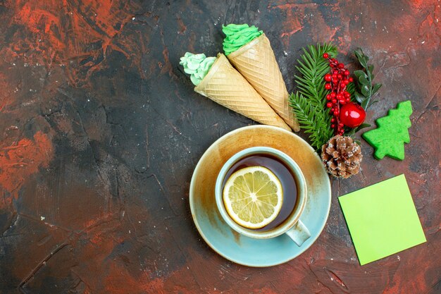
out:
M236 51L263 33L263 31L254 25L250 27L246 23L243 25L235 25L232 23L227 26L223 25L222 31L226 35L225 39L223 39L223 51L225 51L225 55Z

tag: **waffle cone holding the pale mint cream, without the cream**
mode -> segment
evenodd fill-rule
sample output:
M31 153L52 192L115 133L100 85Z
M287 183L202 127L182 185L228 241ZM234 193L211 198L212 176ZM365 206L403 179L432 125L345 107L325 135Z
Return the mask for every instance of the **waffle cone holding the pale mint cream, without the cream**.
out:
M223 54L194 91L254 121L291 130Z

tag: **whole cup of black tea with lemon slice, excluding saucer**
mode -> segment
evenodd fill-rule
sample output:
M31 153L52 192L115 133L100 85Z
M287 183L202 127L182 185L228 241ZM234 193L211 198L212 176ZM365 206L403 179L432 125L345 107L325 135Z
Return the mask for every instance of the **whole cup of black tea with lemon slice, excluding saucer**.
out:
M300 220L306 180L278 149L251 147L234 154L218 173L215 195L224 221L242 235L268 239L285 233L298 246L311 236ZM266 214L271 216L265 219Z

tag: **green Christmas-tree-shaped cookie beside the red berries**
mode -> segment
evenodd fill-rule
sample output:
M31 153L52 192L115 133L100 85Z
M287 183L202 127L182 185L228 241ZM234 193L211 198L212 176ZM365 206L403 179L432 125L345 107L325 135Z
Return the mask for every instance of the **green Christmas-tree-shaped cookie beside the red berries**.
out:
M390 109L387 116L378 118L378 128L368 130L362 135L364 140L375 148L373 156L383 159L387 156L397 160L404 159L404 143L410 142L408 128L412 123L412 105L409 100L399 102L397 109Z

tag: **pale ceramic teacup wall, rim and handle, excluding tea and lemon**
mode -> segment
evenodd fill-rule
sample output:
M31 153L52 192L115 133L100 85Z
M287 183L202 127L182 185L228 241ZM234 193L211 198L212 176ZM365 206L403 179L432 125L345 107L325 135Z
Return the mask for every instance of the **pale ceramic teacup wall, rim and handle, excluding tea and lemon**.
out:
M271 157L275 157L279 161L282 161L292 172L292 175L294 176L294 180L297 185L297 201L291 214L287 217L287 219L285 219L285 221L280 223L280 225L276 226L275 228L271 228L268 231L256 231L240 226L230 218L223 204L223 183L228 171L234 164L237 163L237 161L256 154L270 155ZM251 147L237 152L223 165L221 171L218 174L218 178L216 179L215 189L216 204L218 206L219 212L221 213L221 216L223 217L224 221L228 223L228 226L230 226L238 233L241 233L242 235L246 235L247 237L256 239L267 239L274 238L278 235L286 233L299 246L301 246L304 241L306 241L311 236L308 228L306 228L304 223L302 223L302 221L300 220L300 217L306 205L306 180L295 161L287 154L281 152L278 149L274 149L271 147Z

